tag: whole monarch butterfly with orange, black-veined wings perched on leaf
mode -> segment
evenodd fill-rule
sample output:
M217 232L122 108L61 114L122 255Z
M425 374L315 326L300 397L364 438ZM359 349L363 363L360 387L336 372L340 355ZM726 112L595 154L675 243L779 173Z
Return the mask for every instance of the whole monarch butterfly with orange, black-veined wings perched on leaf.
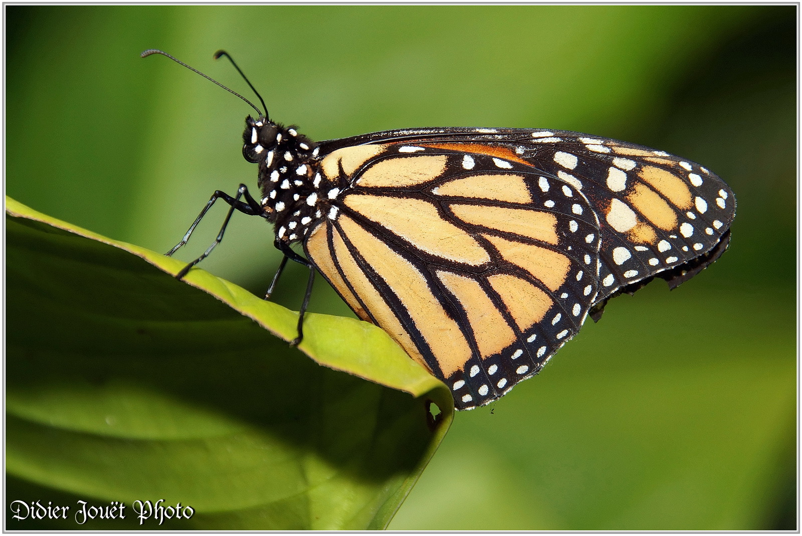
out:
M142 56L154 53L192 69L162 51ZM242 154L259 166L261 199L245 185L236 197L215 192L168 255L218 198L231 206L221 232L176 277L220 242L234 209L264 217L285 255L268 295L288 258L310 268L294 343L319 270L360 319L448 384L457 409L489 404L539 372L610 298L655 276L674 288L729 244L731 189L667 152L528 128L315 143L269 120L255 89L265 113L217 84L258 113L245 119Z

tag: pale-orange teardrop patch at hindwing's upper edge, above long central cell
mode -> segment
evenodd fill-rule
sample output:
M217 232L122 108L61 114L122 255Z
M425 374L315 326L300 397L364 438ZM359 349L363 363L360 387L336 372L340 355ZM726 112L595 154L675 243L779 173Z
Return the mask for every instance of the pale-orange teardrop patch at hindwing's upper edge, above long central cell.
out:
M415 186L436 179L446 170L444 155L395 156L379 160L356 181L363 188Z

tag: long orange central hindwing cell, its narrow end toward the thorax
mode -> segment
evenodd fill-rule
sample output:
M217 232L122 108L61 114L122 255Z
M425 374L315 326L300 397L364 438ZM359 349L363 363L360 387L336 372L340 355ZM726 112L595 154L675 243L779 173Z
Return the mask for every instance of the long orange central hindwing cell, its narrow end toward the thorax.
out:
M490 255L475 238L445 221L428 201L351 193L343 202L429 254L471 266L490 261Z

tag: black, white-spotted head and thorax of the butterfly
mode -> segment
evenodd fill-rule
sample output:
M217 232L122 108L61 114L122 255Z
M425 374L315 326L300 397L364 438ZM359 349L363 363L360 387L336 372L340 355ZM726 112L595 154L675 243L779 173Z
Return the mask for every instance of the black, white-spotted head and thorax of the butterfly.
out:
M328 209L321 196L318 148L293 127L260 117L245 119L242 156L259 164L258 186L265 218L282 242L300 241ZM325 206L324 206L325 205Z

